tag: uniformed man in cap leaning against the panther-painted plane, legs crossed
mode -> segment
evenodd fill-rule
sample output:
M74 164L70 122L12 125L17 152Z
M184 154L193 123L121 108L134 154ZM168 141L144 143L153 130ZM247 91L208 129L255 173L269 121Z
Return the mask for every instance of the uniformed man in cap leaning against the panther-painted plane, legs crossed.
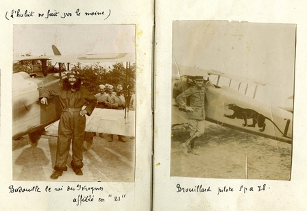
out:
M186 156L188 156L188 145L190 144L191 152L195 155L199 155L194 149L195 140L205 132L206 89L202 86L204 84L204 77L195 76L195 84L195 86L191 86L176 98L177 102L188 114L188 124L191 129L190 138L180 145ZM190 99L189 106L186 105L186 98Z

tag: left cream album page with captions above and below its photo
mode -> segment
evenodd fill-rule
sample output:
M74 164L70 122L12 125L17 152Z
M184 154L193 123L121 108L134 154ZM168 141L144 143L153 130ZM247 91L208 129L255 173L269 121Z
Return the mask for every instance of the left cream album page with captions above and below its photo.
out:
M153 1L14 1L0 13L1 210L150 210ZM71 75L86 101L101 101L86 117L83 162L70 149L67 168L57 166L58 119L90 104L62 108L38 96ZM74 145L79 123L69 127Z

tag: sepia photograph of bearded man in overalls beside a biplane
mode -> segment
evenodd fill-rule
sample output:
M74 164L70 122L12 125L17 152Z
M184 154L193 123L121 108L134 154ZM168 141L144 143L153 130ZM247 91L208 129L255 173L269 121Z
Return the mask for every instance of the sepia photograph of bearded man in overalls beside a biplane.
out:
M12 179L134 182L135 25L14 25Z

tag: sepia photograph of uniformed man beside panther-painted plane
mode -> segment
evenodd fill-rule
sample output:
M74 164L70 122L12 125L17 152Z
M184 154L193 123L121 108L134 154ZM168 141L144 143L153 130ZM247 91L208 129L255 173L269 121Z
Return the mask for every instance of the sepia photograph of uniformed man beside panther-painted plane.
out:
M174 21L171 177L291 180L296 25Z

